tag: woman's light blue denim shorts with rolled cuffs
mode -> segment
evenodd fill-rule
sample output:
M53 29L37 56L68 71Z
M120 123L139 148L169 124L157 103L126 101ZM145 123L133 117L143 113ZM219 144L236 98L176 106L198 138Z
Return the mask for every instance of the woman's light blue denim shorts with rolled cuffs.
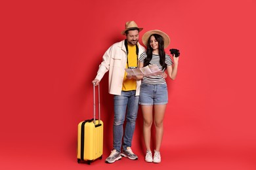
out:
M140 85L140 105L165 105L168 103L167 84L147 84Z

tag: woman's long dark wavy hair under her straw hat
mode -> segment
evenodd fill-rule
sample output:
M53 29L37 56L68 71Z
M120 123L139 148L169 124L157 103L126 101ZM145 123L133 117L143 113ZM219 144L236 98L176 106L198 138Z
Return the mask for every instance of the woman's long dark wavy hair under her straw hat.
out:
M164 50L164 43L163 43L163 37L158 34L152 34L150 37L154 36L156 41L158 41L158 51L160 56L160 65L161 69L165 70L167 69L167 65L165 63L165 50ZM150 46L150 37L148 38L148 45L146 50L146 58L144 59L144 67L150 64L150 61L152 59L153 55L153 48Z

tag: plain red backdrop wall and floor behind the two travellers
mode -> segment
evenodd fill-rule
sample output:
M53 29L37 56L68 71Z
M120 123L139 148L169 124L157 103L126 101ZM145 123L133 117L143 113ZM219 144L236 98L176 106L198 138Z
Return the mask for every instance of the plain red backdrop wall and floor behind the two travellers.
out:
M104 160L112 149L112 95L101 82L104 154L93 168L255 169L255 2L1 1L0 169L85 169L76 160L77 124L92 118L91 81L102 55L125 37L125 22L161 29L181 51L167 80L160 164ZM140 39L141 42L141 39ZM128 164L129 163L129 164Z

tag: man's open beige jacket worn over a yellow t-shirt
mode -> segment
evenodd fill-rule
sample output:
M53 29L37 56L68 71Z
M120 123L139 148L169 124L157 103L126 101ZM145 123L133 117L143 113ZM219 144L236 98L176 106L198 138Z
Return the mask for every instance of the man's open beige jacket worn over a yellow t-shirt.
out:
M145 51L144 46L139 46L139 56ZM138 58L139 58L138 56ZM127 55L125 49L125 40L116 42L103 55L102 62L99 65L95 79L101 80L104 74L108 74L108 92L114 95L121 95L123 76L125 75L125 66L127 63ZM138 62L139 63L139 62ZM136 95L140 94L141 80L137 80Z

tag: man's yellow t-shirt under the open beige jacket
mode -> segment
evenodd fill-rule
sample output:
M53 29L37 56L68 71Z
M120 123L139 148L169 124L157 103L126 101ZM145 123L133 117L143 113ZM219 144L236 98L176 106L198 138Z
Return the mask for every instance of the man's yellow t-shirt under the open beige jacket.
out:
M132 46L130 44L127 44L128 47L128 65L129 67L137 67L138 61L137 61L137 54L136 54L136 45ZM128 68L128 65L126 63L126 68ZM126 71L125 71L125 76L123 78L123 91L130 91L130 90L136 90L136 80L131 78L127 79L126 78Z

